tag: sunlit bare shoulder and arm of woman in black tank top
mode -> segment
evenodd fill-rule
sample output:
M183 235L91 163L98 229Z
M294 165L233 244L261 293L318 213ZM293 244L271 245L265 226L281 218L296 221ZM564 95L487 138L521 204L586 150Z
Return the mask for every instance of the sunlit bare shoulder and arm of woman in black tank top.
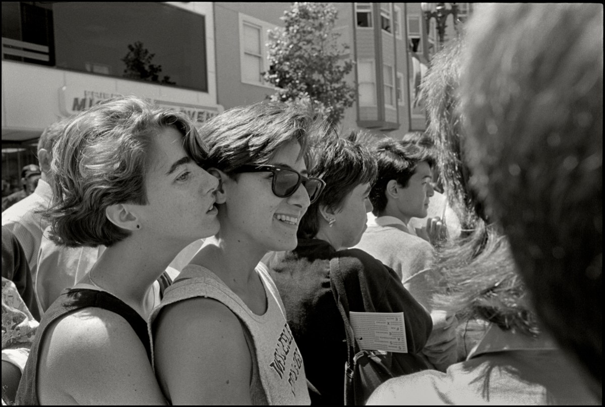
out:
M42 404L166 404L137 334L101 308L77 311L48 328L38 393Z

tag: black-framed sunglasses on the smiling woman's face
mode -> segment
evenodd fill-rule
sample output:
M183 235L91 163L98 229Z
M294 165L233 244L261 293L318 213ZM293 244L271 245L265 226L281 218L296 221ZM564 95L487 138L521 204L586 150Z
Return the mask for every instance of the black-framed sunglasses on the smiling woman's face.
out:
M319 195L321 195L321 191L324 190L325 182L315 177L305 177L304 175L299 174L297 171L293 169L280 167L276 165L269 164L250 164L243 165L235 169L234 173L238 172L272 172L273 173L273 181L271 183L271 189L273 190L273 194L277 195L280 198L287 198L292 196L298 186L302 183L302 185L307 190L307 194L309 194L309 200L311 203L315 202Z

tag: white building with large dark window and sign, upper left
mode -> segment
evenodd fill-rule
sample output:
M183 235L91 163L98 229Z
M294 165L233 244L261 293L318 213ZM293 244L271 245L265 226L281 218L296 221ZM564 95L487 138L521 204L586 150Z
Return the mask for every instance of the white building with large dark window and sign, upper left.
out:
M211 2L2 2L2 196L47 125L115 94L215 116L214 56Z

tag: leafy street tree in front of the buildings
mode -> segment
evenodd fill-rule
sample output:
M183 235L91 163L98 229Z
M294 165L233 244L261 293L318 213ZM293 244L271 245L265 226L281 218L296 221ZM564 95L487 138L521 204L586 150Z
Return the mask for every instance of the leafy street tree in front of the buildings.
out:
M334 31L338 11L333 4L295 2L269 31L269 71L264 80L276 86L273 101L307 102L333 127L355 102L356 86L345 81L353 69L347 44Z

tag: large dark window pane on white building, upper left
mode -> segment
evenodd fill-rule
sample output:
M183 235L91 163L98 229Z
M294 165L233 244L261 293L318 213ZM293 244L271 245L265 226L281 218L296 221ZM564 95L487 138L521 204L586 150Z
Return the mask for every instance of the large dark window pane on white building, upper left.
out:
M12 39L48 49L10 59L208 91L203 15L157 2L20 4L5 16L3 3L2 36L16 23Z

